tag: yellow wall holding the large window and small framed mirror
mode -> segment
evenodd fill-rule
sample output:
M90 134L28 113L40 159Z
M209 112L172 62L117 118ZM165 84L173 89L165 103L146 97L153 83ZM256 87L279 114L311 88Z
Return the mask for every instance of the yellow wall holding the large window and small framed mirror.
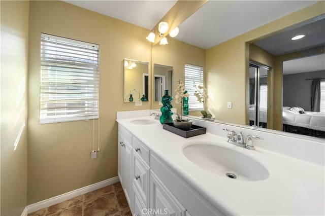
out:
M59 1L31 1L29 15L28 204L31 204L117 176L116 112L150 109L149 102L143 106L123 102L123 59L151 62L151 44L145 40L150 32L147 29ZM39 124L41 32L100 45L101 151L96 159L90 159L92 121ZM96 120L95 137L97 124Z

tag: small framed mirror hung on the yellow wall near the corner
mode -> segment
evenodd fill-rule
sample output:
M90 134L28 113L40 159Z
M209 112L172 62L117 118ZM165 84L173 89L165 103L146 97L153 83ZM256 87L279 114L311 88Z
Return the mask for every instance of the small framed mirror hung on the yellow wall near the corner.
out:
M149 63L124 58L124 102L149 101Z

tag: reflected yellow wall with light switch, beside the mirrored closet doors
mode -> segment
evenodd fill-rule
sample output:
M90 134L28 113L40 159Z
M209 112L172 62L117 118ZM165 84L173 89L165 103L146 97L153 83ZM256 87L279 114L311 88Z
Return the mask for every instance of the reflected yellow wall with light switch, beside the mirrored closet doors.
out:
M211 92L215 107L212 107L216 119L238 124L246 123L246 85L249 70L249 45L258 38L266 38L276 31L324 14L325 2L321 1L293 14L270 22L264 26L239 35L206 51L207 87ZM274 86L281 86L277 79ZM275 92L274 99L281 96ZM233 102L233 109L227 108L227 102ZM277 115L281 114L278 112Z

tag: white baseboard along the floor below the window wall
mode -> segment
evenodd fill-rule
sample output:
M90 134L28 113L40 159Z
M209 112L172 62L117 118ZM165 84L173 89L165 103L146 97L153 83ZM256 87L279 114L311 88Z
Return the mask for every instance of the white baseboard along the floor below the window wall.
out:
M57 204L59 202L66 201L68 199L74 198L74 197L79 196L81 194L85 194L85 193L88 193L88 192L103 188L105 186L108 186L108 185L111 185L111 184L114 184L114 183L117 183L117 182L119 182L119 179L118 179L118 176L115 176L115 177L106 179L106 180L104 180L102 182L99 182L99 183L88 185L86 187L79 188L77 190L70 191L70 192L65 193L65 194L61 194L61 195L58 195L58 196L55 196L55 197L52 197L52 198L49 198L49 199L34 203L34 204L30 204L25 208L25 210L23 211L21 216L26 216L27 212L28 213L34 212L34 211L40 210L42 208L46 208L48 206L55 205L55 204ZM25 211L26 211L26 213L25 213Z

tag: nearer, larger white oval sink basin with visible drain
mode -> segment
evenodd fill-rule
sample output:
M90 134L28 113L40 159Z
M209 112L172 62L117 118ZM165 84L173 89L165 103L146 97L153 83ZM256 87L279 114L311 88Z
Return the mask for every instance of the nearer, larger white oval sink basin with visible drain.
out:
M186 146L183 154L192 163L224 177L243 181L261 181L269 177L268 170L256 160L215 144L202 142Z

